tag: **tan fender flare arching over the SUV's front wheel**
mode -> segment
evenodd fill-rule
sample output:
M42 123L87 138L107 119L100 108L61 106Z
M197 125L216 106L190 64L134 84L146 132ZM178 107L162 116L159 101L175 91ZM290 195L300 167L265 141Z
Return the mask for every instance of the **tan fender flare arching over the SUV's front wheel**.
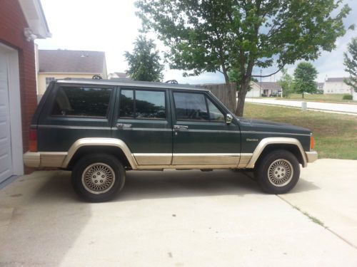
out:
M248 169L253 169L254 165L256 164L256 161L258 157L261 155L261 152L263 152L264 148L267 145L271 144L288 144L288 145L296 145L298 147L298 150L301 153L301 156L303 157L303 167L307 166L307 159L306 159L306 154L303 151L303 147L301 143L295 139L295 138L288 138L288 137L268 137L268 138L263 138L261 142L259 142L258 146L253 152L253 157L251 157L251 160L249 161L248 165L246 168Z

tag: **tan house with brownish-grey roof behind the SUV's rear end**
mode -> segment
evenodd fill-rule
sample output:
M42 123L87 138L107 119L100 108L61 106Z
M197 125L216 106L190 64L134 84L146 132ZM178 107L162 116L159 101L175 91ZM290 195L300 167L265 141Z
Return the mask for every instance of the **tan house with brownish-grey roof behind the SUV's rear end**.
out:
M100 51L39 50L37 93L41 97L51 80L63 78L106 79L106 55Z

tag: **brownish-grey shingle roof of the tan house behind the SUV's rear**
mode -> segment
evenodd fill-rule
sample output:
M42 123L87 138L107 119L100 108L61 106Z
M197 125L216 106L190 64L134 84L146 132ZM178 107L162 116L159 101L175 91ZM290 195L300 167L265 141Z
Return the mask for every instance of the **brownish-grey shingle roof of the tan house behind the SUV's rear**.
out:
M39 72L103 73L105 58L100 51L39 50Z

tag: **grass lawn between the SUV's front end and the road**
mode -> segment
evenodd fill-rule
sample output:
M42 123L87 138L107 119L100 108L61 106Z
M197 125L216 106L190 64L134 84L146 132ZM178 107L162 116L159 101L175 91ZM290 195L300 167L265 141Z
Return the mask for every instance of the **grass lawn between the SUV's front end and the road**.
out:
M246 103L244 117L311 129L319 158L357 159L357 116Z

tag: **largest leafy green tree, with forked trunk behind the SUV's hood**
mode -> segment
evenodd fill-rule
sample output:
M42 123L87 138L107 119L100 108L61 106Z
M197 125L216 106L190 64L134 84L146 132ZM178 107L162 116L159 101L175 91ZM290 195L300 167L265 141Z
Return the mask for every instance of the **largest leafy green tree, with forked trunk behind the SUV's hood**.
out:
M226 83L228 71L239 70L237 115L251 77L259 76L252 75L254 66L276 66L273 75L333 50L350 11L342 0L137 0L136 6L144 30L154 29L169 46L171 68L218 71Z

